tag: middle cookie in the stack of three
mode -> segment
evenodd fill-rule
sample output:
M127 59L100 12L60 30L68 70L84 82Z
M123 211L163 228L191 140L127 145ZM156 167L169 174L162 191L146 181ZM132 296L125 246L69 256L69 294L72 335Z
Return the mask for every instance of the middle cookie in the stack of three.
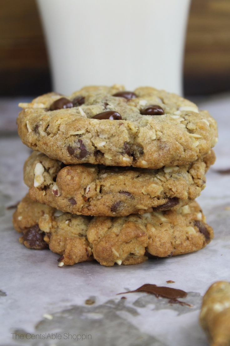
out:
M211 150L184 166L159 170L102 165L68 165L33 152L24 164L24 182L33 201L58 210L93 216L177 210L200 195Z

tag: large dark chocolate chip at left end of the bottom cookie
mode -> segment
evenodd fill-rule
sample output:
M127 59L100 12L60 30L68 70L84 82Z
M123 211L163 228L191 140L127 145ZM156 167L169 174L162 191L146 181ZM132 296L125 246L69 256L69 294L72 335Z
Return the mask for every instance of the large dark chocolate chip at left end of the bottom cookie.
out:
M26 242L31 249L43 250L48 248L44 241L45 232L41 231L38 225L30 227L23 235L23 242Z

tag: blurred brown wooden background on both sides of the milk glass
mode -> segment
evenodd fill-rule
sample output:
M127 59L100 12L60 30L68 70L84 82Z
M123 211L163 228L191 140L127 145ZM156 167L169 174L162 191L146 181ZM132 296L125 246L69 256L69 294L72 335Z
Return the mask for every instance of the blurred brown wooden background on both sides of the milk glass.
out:
M35 0L0 0L0 95L51 90ZM186 95L230 90L230 0L192 0L184 57Z

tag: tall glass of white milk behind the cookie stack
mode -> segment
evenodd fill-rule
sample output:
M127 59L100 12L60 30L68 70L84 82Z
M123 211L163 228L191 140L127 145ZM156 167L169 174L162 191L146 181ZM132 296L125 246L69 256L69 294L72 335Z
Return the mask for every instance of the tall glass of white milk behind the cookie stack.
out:
M190 0L37 0L53 89L154 86L182 94Z

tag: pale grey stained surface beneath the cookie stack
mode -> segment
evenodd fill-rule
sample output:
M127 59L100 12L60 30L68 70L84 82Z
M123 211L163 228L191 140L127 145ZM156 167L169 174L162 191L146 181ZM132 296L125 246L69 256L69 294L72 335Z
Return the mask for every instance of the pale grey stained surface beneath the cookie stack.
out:
M7 207L27 193L22 167L30 149L15 132L16 102L0 100L0 345L207 346L198 319L202 295L230 272L230 174L219 172L230 169L230 95L199 100L219 125L217 162L198 198L215 238L196 253L113 267L60 268L59 255L18 242ZM189 292L184 301L192 307L140 292L117 295L144 283Z

